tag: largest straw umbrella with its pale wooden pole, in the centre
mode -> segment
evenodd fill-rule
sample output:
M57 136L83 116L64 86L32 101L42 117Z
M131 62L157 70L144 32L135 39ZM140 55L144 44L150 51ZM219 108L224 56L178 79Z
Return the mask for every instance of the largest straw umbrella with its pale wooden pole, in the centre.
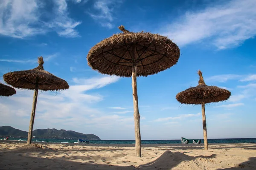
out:
M102 40L90 49L88 65L102 74L132 77L135 150L141 156L140 113L137 76L148 76L175 65L180 57L178 46L159 34L130 32L124 26L120 34Z

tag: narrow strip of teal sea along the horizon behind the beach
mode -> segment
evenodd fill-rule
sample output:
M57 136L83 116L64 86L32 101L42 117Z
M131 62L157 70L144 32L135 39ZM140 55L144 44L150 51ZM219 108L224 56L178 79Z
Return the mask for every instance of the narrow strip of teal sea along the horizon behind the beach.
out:
M4 138L0 138L3 140ZM26 138L9 138L9 140L27 141ZM204 143L204 139L201 139ZM75 143L72 139L32 139L32 142ZM93 144L134 144L135 140L89 140ZM180 140L141 140L142 144L180 144ZM208 143L256 143L256 138L208 139Z

